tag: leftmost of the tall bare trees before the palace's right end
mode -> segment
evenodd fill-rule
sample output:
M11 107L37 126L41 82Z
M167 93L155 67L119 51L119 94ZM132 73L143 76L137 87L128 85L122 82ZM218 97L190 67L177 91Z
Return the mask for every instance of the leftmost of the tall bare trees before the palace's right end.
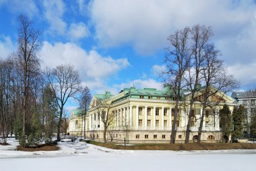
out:
M170 143L175 143L179 100L181 100L181 90L184 88L183 76L189 67L189 31L190 29L186 27L183 30L177 30L168 37L171 47L166 49L167 54L164 57L166 71L161 73L164 78L164 85L170 88L170 96L175 100Z

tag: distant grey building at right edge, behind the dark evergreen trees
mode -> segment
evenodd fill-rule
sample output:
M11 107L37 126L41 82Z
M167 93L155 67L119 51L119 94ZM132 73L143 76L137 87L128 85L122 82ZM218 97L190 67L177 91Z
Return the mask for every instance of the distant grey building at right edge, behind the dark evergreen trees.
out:
M256 91L233 92L232 98L236 100L237 106L245 106L247 118L245 123L244 136L251 137L249 131L249 123L251 123L252 116L255 116L256 114Z

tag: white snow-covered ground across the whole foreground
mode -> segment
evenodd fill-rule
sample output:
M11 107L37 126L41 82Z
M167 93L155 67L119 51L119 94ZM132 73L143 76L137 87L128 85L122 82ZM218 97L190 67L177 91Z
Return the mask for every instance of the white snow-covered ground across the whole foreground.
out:
M61 142L59 151L14 151L0 145L0 170L256 170L256 150L133 151Z

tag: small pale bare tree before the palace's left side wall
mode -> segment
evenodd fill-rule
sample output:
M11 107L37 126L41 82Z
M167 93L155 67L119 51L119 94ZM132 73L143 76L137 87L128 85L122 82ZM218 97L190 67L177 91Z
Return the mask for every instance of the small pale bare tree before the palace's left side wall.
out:
M113 124L113 121L115 119L115 114L110 111L110 108L112 106L112 101L109 100L110 96L108 94L104 95L104 98L100 99L98 98L96 100L96 110L98 110L98 113L100 114L100 121L103 123L103 139L104 143L106 143L106 133L108 127Z

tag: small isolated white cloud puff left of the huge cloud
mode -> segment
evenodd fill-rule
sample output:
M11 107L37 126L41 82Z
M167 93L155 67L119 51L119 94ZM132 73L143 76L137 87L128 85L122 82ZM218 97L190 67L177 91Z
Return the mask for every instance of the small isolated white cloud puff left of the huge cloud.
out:
M90 34L86 24L83 22L72 23L69 28L69 36L71 40L79 40L80 38L86 38Z

